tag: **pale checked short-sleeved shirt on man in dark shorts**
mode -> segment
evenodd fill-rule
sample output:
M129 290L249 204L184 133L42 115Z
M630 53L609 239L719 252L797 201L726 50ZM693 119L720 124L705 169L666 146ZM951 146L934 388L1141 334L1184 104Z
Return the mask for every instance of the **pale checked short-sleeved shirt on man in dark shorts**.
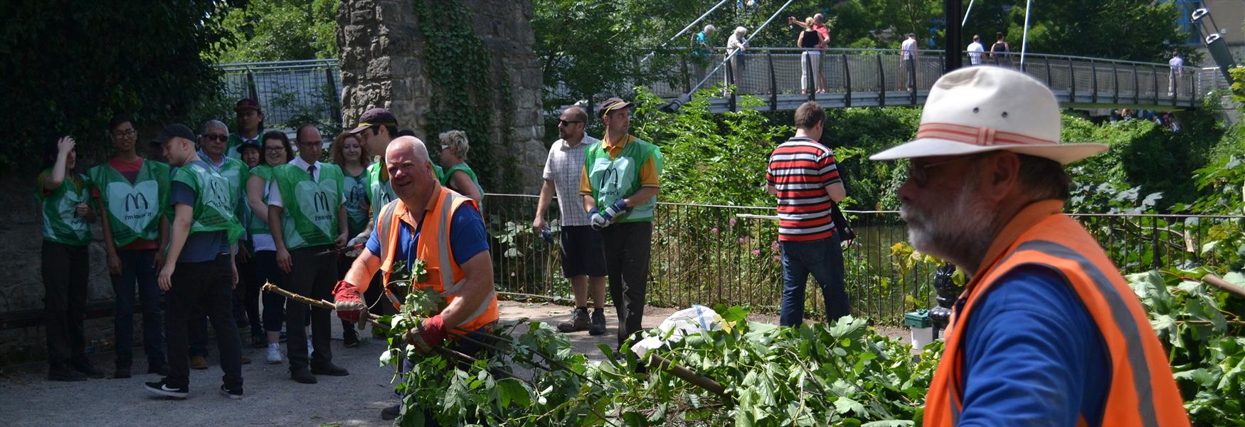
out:
M579 194L579 178L584 174L584 157L588 147L600 142L600 139L584 134L574 147L566 144L566 139L558 139L549 147L549 157L545 158L544 179L553 181L554 190L558 193L558 212L561 213L561 225L591 225L588 215L584 215L584 198Z

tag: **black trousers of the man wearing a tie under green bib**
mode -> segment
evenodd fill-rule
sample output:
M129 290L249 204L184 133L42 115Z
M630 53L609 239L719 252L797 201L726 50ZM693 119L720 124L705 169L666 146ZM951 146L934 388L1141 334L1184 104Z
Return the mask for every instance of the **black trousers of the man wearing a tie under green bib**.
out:
M337 284L337 263L332 258L316 256L317 253L332 246L312 246L290 250L293 268L285 276L283 289L310 298L312 300L332 300L332 286ZM331 340L332 314L329 309L309 307L293 300L285 304L285 347L290 359L290 371L308 367L306 314L311 310L311 345L315 352L311 364L324 366L332 362Z

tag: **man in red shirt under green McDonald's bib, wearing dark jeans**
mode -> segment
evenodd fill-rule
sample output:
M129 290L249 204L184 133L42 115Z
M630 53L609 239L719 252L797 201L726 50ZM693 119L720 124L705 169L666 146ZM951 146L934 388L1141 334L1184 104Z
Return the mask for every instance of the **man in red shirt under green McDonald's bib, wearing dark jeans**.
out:
M143 352L147 373L168 373L164 364L164 331L161 325L159 285L156 269L163 266L162 248L168 240L169 167L138 157L138 132L128 115L108 122L108 136L117 153L87 174L91 177L98 210L106 220L103 249L108 278L116 295L113 334L117 359L112 377L128 378L133 365L134 291L143 310Z

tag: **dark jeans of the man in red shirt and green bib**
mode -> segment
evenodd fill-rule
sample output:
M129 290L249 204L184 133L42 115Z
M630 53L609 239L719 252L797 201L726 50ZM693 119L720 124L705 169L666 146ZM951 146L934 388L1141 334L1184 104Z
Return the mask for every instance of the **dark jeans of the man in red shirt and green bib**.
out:
M112 291L117 295L113 330L117 336L117 367L131 367L134 357L134 289L137 284L143 307L143 351L148 366L164 365L164 335L161 324L159 285L152 261L156 249L117 250L121 274L111 275Z

